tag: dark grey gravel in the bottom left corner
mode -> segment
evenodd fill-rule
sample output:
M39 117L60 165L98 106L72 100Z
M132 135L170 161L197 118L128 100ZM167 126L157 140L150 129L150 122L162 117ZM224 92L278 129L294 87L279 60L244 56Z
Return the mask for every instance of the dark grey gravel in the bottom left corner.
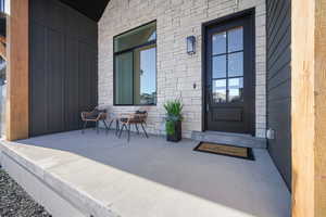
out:
M51 217L0 168L0 217Z

